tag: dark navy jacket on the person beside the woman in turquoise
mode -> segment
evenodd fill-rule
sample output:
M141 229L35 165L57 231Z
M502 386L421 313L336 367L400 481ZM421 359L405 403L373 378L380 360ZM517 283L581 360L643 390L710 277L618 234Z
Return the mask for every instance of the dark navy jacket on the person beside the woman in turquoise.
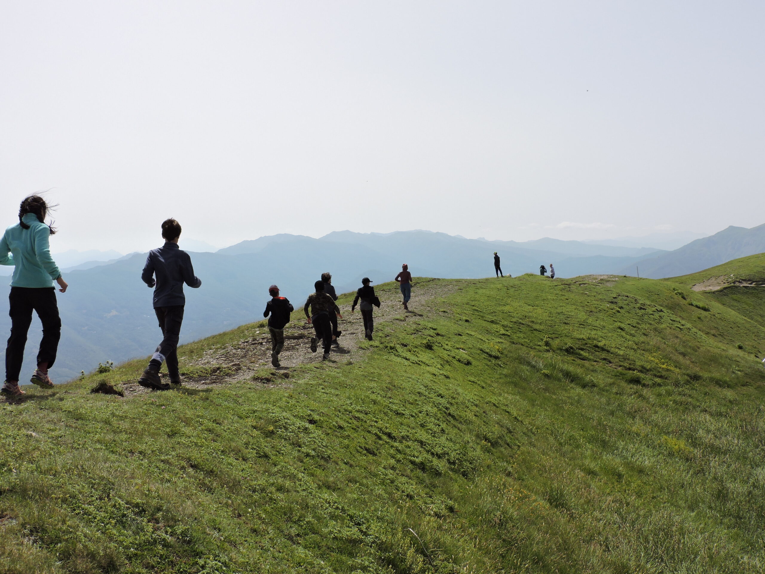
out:
M155 307L186 305L184 283L194 289L202 285L200 279L194 275L189 254L178 249L177 243L169 241L159 249L151 249L148 252L141 279L149 287L155 287Z

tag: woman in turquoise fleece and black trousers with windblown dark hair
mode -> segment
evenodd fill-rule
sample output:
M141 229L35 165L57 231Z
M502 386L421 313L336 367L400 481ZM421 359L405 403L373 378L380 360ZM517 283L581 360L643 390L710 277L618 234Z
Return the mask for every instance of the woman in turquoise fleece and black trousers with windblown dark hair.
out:
M15 266L11 279L11 337L5 349L5 385L2 394L23 395L18 386L21 363L27 332L32 322L32 310L43 324L43 338L37 354L37 370L31 382L44 389L50 389L53 381L47 370L53 367L61 338L61 319L56 303L56 289L53 282L66 292L67 282L50 257L48 238L56 233L53 227L44 223L48 206L39 195L30 195L21 202L18 223L5 230L0 240L0 265Z

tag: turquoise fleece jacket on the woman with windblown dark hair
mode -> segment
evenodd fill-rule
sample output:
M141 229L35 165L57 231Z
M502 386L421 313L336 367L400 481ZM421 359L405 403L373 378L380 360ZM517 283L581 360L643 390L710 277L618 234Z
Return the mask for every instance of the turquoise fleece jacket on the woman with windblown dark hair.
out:
M16 223L5 230L0 240L0 265L16 266L11 287L53 287L53 280L61 272L50 256L50 228L35 214L26 214L22 220L29 229Z

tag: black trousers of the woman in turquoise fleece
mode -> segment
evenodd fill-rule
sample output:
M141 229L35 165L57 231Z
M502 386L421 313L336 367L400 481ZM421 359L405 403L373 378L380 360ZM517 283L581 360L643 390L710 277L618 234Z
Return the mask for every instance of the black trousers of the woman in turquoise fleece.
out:
M58 315L56 289L53 287L11 287L8 295L11 309L11 336L5 347L5 380L18 380L21 364L24 361L24 347L27 346L27 333L32 323L32 311L43 324L43 338L37 364L47 363L47 368L56 362L58 341L61 338L61 318Z

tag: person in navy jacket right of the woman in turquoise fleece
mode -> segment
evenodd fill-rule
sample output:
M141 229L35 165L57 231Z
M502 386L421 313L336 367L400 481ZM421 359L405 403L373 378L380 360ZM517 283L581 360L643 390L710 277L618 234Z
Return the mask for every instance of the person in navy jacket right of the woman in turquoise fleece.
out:
M149 287L154 287L154 311L162 330L162 342L151 356L148 367L138 379L138 384L149 389L166 390L170 387L162 383L159 369L167 361L170 382L181 384L178 372L178 338L181 323L184 321L184 283L197 289L202 282L194 275L191 258L188 253L178 249L178 237L181 236L181 223L174 219L162 222L164 245L152 249L146 258L146 265L141 279ZM155 280L156 276L156 280Z

